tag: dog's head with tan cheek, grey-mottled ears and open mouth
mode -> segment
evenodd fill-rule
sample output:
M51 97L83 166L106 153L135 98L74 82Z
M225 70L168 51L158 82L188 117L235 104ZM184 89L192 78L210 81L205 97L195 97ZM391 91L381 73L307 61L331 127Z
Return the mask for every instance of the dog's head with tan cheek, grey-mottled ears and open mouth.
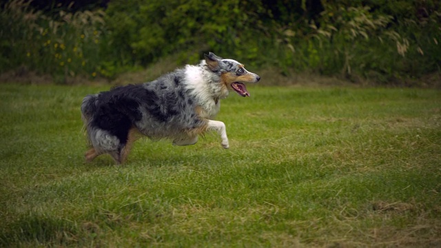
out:
M212 52L204 56L209 70L220 74L220 81L240 96L249 96L245 83L257 83L260 80L258 74L248 72L243 64L234 59L222 59Z

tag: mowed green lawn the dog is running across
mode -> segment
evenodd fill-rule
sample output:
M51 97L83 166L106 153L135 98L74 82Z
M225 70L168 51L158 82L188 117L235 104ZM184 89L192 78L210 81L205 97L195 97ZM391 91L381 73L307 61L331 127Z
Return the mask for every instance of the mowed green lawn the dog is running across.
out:
M106 86L0 85L0 247L439 247L441 92L249 87L193 146L84 163Z

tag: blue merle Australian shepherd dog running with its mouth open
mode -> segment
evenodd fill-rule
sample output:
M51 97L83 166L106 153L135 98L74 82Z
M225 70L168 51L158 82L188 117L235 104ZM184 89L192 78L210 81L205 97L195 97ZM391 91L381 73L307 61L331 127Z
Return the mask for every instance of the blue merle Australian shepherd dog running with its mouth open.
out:
M221 145L228 148L225 124L213 120L220 99L229 90L249 96L245 83L259 80L238 61L209 52L198 65L186 65L149 83L85 96L81 117L90 144L85 160L110 154L116 163L123 163L140 136L193 145L198 135L216 131Z

